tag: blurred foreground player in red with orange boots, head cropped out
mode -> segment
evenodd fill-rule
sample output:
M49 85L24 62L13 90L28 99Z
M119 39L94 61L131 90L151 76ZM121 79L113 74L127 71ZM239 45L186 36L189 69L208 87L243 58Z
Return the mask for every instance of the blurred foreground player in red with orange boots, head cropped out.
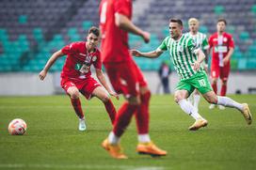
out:
M118 111L113 130L102 146L116 159L127 157L120 149L120 136L136 116L138 145L136 151L152 156L164 156L165 150L156 147L149 135L149 102L151 92L147 82L133 60L128 45L128 32L150 41L150 34L138 28L132 19L132 0L102 0L100 28L102 56L111 84L126 101Z

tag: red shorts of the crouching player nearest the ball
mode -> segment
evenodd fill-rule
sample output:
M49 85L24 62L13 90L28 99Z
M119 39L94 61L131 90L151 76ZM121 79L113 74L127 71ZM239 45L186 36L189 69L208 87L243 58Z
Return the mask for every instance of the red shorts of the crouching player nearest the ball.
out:
M70 78L61 78L60 82L61 87L68 94L68 89L72 86L78 88L80 93L82 93L88 100L91 98L93 90L97 86L101 86L94 78L87 77L86 79L70 79Z

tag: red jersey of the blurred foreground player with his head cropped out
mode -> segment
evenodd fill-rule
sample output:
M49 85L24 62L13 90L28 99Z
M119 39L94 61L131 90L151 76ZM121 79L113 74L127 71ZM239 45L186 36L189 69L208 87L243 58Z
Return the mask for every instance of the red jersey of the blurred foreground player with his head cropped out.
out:
M125 62L129 54L128 32L115 23L115 14L132 19L132 0L102 0L100 4L100 29L102 32L102 57L104 63Z

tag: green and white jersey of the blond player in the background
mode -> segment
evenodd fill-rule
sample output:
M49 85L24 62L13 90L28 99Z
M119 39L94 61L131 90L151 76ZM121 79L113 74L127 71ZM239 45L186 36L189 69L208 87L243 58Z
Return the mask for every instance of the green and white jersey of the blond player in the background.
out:
M200 47L201 50L209 49L209 43L205 34L198 32L196 35L192 35L190 32L185 33L184 36L188 36L194 40L196 47Z

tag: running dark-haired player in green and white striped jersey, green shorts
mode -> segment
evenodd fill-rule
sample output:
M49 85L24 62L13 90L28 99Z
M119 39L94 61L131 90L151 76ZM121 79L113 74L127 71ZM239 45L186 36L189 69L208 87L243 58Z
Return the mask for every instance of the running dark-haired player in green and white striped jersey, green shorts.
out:
M207 120L200 116L196 108L186 100L195 89L198 89L203 98L210 103L236 108L243 114L248 124L251 124L252 117L247 103L242 104L228 97L216 96L205 71L200 66L205 55L200 48L196 48L193 39L183 35L182 30L183 22L171 19L169 23L170 36L164 39L156 50L148 53L141 53L137 50L131 52L137 57L156 58L164 51L169 51L174 68L180 76L180 82L175 89L174 100L187 115L196 119L189 130L196 131L208 124Z

